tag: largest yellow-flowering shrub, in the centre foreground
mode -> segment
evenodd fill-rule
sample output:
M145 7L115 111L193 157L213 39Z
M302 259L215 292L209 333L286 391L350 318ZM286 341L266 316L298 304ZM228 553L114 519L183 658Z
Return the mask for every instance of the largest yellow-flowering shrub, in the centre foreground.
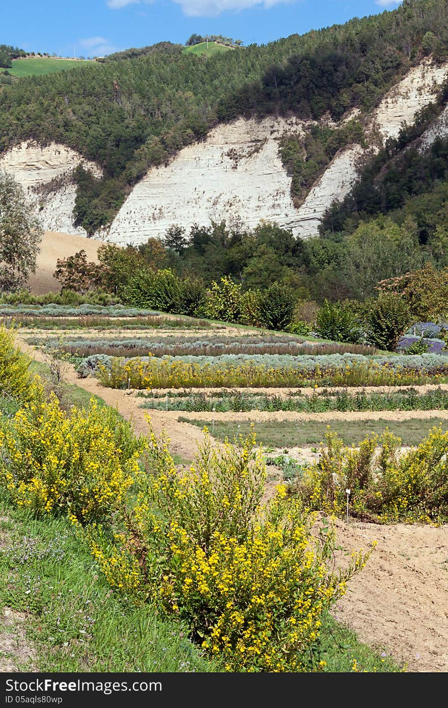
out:
M212 447L207 432L188 472L151 434L149 469L132 515L113 538L88 539L110 583L158 601L229 671L319 670L323 612L368 554L333 564L333 531L283 486L261 506L265 466L255 435Z

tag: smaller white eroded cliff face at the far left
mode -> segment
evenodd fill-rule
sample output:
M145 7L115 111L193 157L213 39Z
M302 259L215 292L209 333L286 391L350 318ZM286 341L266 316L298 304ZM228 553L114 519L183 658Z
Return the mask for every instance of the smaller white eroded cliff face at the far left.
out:
M102 174L98 165L57 143L42 147L22 142L0 157L0 169L23 186L46 231L86 236L84 229L73 225L76 185L71 173L78 165L97 178Z

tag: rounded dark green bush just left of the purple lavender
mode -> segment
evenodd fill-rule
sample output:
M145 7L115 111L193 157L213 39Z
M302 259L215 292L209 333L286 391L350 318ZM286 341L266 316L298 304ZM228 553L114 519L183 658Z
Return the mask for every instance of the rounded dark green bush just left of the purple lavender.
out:
M398 340L412 321L408 304L399 295L381 293L366 315L369 342L379 349L395 351Z

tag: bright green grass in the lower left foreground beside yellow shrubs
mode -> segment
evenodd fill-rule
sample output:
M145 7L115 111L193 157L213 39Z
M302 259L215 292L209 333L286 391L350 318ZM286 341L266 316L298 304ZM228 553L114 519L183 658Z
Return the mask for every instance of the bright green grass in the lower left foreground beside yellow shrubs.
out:
M64 519L38 521L0 504L2 607L26 612L40 671L218 670L185 627L118 598ZM5 541L6 537L6 541Z

